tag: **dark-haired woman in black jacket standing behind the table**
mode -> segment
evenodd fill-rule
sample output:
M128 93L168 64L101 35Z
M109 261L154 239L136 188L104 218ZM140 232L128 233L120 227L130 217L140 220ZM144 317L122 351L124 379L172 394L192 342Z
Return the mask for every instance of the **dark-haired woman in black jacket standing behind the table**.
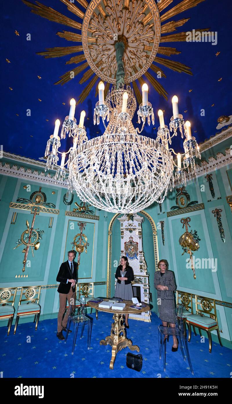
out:
M131 281L134 280L134 273L133 269L129 266L127 257L121 257L120 265L116 269L115 278L117 279L117 284L114 296L123 300L132 300L134 295ZM129 314L125 314L126 328L129 328L128 317Z

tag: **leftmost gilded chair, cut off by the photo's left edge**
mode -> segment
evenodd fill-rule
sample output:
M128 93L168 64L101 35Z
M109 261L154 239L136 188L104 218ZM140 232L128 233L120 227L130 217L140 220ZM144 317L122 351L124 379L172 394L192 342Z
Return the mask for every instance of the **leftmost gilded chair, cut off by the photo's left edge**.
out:
M14 301L17 293L17 288L0 288L0 320L8 320L8 332L14 319Z

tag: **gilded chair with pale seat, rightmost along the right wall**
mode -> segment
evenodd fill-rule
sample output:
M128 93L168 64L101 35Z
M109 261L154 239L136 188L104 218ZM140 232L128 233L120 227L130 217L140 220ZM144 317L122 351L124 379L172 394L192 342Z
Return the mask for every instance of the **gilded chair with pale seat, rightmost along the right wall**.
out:
M199 329L200 335L201 330L205 330L207 332L207 336L209 339L209 352L211 353L212 350L211 331L217 330L218 341L221 347L223 346L218 327L215 300L210 299L209 297L195 295L195 304L197 314L191 314L190 316L186 316L186 324L189 330L189 341L191 340L191 325L196 326ZM209 316L205 316L205 314L208 314Z

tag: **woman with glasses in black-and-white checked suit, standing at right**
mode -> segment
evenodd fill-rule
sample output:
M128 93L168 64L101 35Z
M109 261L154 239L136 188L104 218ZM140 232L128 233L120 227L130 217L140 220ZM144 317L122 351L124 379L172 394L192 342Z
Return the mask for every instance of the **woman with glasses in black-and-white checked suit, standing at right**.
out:
M158 263L160 271L155 272L154 286L157 289L159 317L163 326L166 327L170 323L170 327L176 326L175 300L174 290L176 290L176 282L172 271L168 270L168 261L162 259ZM178 341L173 336L173 348L178 347Z

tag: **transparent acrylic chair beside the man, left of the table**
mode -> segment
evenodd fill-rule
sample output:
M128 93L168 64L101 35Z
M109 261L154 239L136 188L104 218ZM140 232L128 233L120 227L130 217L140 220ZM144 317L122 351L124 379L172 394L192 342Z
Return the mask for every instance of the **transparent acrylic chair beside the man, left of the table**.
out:
M76 339L77 339L77 332L79 326L81 326L81 336L80 339L83 337L84 328L87 325L88 328L88 339L87 339L87 346L88 349L90 348L90 341L91 341L91 332L92 332L92 325L93 325L93 318L88 316L87 309L85 307L85 296L81 296L80 299L76 299L76 293L73 293L73 296L70 300L70 313L68 316L68 323L67 323L67 332L65 337L65 343L68 338L68 332L70 330L71 323L73 323L74 330L73 330L73 349L72 355L74 353Z

